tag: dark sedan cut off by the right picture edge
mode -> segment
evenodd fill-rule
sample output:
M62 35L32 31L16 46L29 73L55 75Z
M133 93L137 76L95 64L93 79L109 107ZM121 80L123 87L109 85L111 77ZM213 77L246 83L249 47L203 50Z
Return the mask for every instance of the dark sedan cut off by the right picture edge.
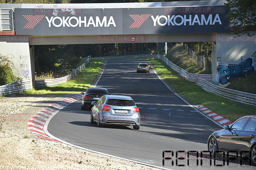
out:
M208 150L210 154L216 151L226 151L229 155L234 153L231 151L242 152L242 156L249 156L252 164L256 165L255 130L255 115L241 117L230 126L224 125L222 130L213 132L208 138Z

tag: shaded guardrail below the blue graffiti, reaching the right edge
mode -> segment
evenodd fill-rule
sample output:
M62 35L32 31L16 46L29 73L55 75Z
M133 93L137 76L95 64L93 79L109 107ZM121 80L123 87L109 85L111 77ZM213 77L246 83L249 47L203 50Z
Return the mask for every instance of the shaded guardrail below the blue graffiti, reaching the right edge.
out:
M201 86L207 92L227 98L229 100L256 106L256 94L220 87L205 81L204 79L197 79L196 85Z

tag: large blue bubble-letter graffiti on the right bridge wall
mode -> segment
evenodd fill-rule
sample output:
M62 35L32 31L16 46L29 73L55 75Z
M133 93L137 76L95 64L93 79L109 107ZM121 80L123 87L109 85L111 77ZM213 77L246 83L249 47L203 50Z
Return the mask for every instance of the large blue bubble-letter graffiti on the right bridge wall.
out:
M245 75L252 74L254 72L254 67L252 66L252 59L248 58L240 62L239 65L235 65L235 64L229 64L228 66L219 65L217 70L219 71L219 83L227 84L235 77L239 78L239 77L244 77Z

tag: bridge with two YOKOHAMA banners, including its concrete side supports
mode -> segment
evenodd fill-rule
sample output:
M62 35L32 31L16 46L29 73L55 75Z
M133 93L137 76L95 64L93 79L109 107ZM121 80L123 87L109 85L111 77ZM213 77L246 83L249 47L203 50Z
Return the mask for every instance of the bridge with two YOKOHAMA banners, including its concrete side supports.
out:
M0 4L0 53L34 79L34 45L212 41L212 82L226 86L254 71L256 49L228 34L223 2Z

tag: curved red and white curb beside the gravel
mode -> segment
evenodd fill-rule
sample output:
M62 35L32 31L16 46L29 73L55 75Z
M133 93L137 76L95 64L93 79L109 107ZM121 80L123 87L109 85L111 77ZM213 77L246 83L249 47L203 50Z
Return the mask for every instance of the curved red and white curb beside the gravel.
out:
M49 137L44 133L43 127L45 122L51 117L56 111L61 110L70 103L73 103L82 98L83 95L76 95L67 99L64 99L58 103L54 103L47 108L36 113L35 116L31 117L28 121L28 130L35 134L37 137L44 139L47 142L57 142L59 141Z

